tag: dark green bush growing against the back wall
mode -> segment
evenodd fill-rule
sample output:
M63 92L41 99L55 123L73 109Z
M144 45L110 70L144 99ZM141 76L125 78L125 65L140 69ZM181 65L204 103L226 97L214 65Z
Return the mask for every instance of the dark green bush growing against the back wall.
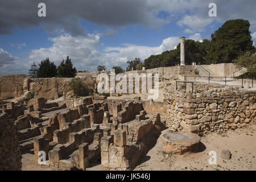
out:
M88 90L82 83L81 78L73 78L71 82L69 82L69 86L73 90L75 96L88 96Z

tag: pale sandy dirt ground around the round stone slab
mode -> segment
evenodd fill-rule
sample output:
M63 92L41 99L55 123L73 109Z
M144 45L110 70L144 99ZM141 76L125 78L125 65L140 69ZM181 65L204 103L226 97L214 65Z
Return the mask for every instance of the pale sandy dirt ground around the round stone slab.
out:
M166 133L164 130L162 133ZM225 134L211 133L201 137L200 151L195 154L172 155L162 152L160 136L141 163L134 169L137 171L175 171L175 170L256 170L256 125L237 130L230 130ZM221 151L230 150L232 158L224 160ZM217 163L209 164L209 151L216 151ZM22 170L52 170L34 163L34 155L22 155ZM106 170L101 164L95 164L88 170Z

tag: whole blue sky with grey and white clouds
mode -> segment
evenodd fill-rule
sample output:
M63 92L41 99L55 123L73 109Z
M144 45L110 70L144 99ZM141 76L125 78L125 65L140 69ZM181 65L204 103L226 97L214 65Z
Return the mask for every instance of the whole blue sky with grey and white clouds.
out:
M46 17L38 16L40 2ZM78 71L125 69L127 60L173 49L180 36L210 39L229 19L249 20L255 42L255 7L255 0L0 0L0 75L27 74L46 57L59 65L66 56Z

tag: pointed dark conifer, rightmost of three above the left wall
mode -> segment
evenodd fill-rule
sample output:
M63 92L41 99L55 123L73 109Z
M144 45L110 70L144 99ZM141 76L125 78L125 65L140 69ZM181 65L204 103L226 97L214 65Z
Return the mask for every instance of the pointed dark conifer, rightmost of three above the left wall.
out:
M71 59L69 59L69 56L67 56L67 59L61 61L58 70L57 70L57 76L58 77L75 77L76 76L76 68L73 68L73 64L71 62Z

